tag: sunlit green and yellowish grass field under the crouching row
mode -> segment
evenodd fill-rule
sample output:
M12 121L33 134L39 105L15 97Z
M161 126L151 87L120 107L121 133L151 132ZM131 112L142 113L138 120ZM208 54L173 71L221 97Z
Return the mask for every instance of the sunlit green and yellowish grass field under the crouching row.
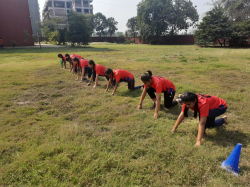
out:
M154 119L149 96L136 110L141 90L121 83L111 96L104 78L94 90L59 67L58 53L126 69L136 85L152 70L176 95L219 96L230 124L194 147L192 115L171 133L180 105ZM250 186L250 49L91 45L2 50L0 59L0 186ZM220 168L237 143L239 177Z

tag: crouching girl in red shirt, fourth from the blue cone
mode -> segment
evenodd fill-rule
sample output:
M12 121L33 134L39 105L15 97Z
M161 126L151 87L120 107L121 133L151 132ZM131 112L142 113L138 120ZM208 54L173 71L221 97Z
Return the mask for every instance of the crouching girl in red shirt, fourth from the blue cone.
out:
M105 70L107 68L105 68L104 66L102 66L100 64L95 64L95 62L93 60L90 60L88 62L88 64L89 64L89 68L92 69L92 75L91 75L90 81L88 83L88 86L90 86L91 81L95 81L95 85L93 86L93 88L96 88L96 86L98 85L99 76L105 76ZM106 79L108 80L108 77L106 77Z

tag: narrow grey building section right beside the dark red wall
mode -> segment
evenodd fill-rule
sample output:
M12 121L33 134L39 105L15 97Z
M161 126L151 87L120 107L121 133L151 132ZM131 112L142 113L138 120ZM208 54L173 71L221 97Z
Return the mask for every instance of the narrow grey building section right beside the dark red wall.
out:
M28 0L28 4L33 36L37 36L37 34L41 36L41 30L37 26L37 22L41 21L38 0Z

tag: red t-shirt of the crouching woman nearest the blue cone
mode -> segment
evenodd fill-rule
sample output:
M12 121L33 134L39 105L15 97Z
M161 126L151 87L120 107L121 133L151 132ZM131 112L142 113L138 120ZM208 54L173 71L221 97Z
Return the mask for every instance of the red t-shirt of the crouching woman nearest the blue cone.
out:
M226 101L219 97L212 95L199 95L198 97L198 112L200 117L207 117L209 115L209 110L227 108ZM185 110L185 104L182 105L182 112ZM195 108L190 108L194 111Z

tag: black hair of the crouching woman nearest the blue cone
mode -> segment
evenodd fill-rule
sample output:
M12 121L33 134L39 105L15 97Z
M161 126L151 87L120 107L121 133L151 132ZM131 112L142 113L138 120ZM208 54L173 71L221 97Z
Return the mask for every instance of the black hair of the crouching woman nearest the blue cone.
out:
M198 97L195 93L192 92L185 92L181 95L182 102L195 102L194 106L194 118L197 118L197 112L198 112ZM184 116L188 117L188 107L186 106L184 109Z

